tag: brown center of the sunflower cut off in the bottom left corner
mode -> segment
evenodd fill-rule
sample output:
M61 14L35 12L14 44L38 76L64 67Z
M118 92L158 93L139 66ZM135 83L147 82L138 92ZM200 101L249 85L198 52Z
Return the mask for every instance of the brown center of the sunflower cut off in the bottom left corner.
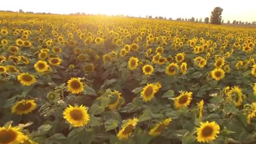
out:
M0 131L0 143L9 144L17 138L17 134L12 130Z

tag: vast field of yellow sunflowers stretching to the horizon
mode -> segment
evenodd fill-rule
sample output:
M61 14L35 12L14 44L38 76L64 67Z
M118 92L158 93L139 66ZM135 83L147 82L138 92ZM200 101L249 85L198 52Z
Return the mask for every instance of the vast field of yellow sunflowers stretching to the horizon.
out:
M0 144L255 144L256 27L0 13Z

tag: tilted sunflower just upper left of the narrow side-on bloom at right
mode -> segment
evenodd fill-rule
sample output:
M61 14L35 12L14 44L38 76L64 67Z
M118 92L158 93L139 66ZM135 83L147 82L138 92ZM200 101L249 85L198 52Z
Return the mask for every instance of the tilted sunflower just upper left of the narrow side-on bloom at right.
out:
M180 108L181 106L187 107L192 100L192 92L181 92L178 97L175 98L174 104L176 108Z

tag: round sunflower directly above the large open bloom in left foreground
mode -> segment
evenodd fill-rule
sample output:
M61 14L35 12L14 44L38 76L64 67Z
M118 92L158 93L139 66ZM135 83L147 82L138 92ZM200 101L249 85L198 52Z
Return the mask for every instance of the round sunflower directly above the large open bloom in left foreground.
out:
M67 81L67 88L68 91L71 93L80 93L83 91L83 83L80 82L80 78L71 78L70 80Z

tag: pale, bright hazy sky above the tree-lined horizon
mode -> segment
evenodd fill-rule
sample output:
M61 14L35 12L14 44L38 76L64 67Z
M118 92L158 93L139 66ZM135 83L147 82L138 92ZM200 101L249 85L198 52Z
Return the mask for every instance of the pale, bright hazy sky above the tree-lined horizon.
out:
M223 8L223 19L256 21L256 0L1 0L0 10L50 13L104 13L130 16L164 16L176 19L205 18L214 7Z

